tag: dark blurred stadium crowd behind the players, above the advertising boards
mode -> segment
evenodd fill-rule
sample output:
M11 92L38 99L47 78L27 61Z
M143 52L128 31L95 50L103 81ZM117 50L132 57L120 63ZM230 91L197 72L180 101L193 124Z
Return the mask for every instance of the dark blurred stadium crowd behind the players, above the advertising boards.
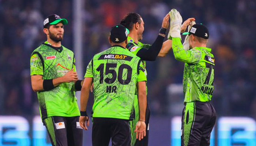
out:
M83 7L83 73L94 54L110 47L110 28L128 12L142 16L142 42L152 44L163 17L176 8L183 20L195 17L209 29L208 47L216 62L212 102L218 115L256 118L255 0L86 0ZM30 55L46 41L43 21L50 14L68 20L62 45L74 50L72 8L71 0L0 0L0 115L39 114ZM152 115L181 115L177 109L183 107L183 95L173 89L181 89L183 68L172 50L165 58L147 62Z

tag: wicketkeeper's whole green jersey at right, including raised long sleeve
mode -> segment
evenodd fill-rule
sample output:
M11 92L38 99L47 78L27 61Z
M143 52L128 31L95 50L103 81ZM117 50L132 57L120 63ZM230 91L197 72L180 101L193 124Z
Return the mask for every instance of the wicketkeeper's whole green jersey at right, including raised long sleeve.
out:
M207 47L184 50L180 38L172 39L174 57L185 62L183 74L184 102L208 102L214 90L214 55Z

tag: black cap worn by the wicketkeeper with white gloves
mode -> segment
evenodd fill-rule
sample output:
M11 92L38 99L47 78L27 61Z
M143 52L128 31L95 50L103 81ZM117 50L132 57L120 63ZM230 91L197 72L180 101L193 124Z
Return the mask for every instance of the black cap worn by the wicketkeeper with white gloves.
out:
M204 38L204 39L209 38L209 31L207 27L204 26L203 24L194 24L191 27L191 30L189 32L182 33L182 35L189 35L189 34L195 35L199 38Z

